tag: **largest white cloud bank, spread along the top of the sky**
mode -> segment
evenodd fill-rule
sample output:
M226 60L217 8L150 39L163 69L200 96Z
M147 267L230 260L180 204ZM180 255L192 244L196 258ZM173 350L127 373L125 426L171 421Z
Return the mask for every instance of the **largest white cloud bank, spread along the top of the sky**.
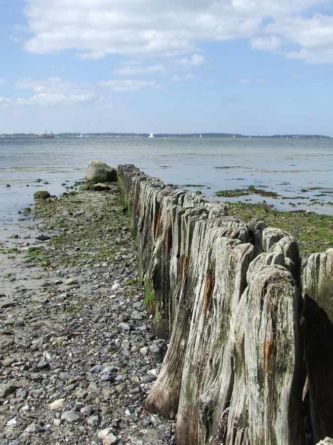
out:
M331 0L25 1L31 37L24 47L38 54L70 48L92 59L194 53L183 62L200 66L201 43L241 38L306 62L333 61L333 16L313 13Z

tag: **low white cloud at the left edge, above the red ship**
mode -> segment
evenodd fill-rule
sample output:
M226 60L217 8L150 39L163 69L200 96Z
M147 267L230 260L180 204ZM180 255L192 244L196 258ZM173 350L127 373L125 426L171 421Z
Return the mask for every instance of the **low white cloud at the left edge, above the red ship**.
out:
M63 81L58 77L46 80L31 78L20 79L14 85L16 89L27 90L28 94L14 99L1 97L0 104L4 105L37 105L41 107L57 107L92 103L101 100L95 91Z

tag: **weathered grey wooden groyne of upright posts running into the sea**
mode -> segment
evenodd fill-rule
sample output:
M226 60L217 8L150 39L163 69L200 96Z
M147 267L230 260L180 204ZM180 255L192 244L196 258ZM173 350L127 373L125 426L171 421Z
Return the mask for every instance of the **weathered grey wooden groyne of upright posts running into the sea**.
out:
M301 276L288 232L118 167L145 303L169 346L146 400L176 443L333 436L333 249Z

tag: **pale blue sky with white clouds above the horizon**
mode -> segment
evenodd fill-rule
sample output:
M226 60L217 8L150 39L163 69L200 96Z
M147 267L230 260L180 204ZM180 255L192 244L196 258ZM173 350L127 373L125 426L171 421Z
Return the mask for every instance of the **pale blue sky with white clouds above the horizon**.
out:
M333 136L332 0L0 0L0 134Z

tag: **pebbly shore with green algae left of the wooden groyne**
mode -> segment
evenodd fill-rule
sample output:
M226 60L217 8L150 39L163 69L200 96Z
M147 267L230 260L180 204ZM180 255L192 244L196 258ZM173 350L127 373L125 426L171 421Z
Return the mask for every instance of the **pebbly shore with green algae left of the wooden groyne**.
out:
M1 443L170 442L172 422L144 409L166 341L122 208L116 184L38 201L15 247L0 246Z

